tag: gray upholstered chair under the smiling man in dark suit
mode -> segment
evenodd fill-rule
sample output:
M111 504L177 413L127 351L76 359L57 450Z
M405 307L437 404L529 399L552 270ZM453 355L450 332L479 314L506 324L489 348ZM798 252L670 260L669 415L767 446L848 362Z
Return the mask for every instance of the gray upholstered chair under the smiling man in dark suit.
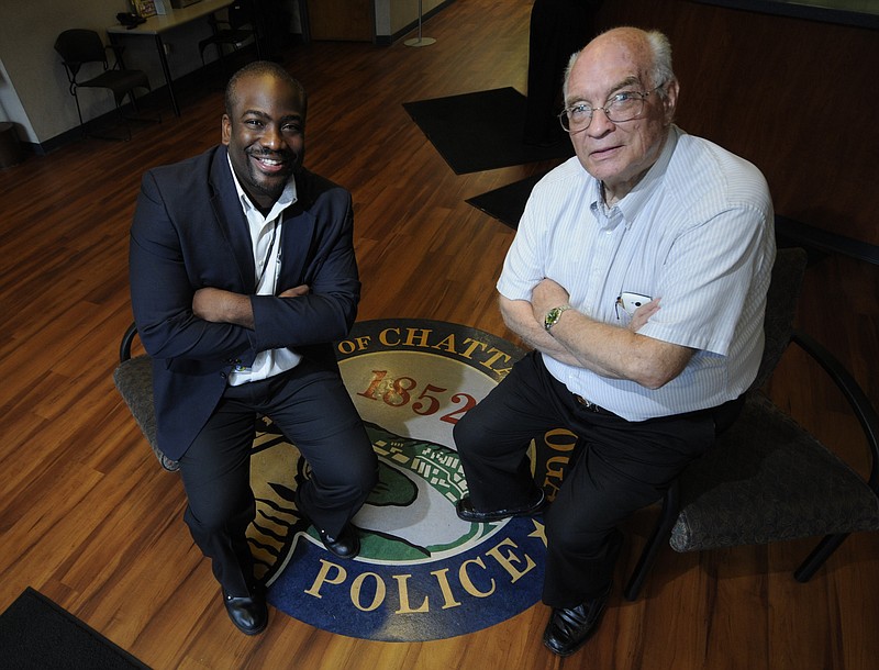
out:
M153 364L146 355L132 358L131 349L137 327L131 324L122 336L119 347L119 367L113 371L113 383L122 394L125 404L146 437L162 467L170 472L180 469L180 464L171 460L158 448L156 440L156 411L153 405Z

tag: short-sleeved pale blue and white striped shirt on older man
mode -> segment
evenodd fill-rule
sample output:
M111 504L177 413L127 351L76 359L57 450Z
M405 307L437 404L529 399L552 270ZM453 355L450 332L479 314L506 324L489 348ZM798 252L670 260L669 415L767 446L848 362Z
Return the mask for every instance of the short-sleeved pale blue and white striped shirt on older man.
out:
M661 298L638 333L698 349L660 389L609 379L544 355L549 372L628 421L712 407L737 398L763 354L774 214L759 170L672 126L657 161L607 208L600 182L574 157L535 187L498 291L531 300L544 278L590 317L624 327L624 292Z

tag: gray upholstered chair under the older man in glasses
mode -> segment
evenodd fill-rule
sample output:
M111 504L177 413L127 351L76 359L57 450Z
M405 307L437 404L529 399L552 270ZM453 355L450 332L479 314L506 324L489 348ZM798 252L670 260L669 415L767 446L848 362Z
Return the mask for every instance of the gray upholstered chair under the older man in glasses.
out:
M741 416L667 492L663 512L625 588L635 600L663 541L676 551L824 536L794 578L808 581L848 534L879 529L879 417L833 355L793 330L805 269L799 248L779 249L767 304L766 350ZM842 390L867 440L867 480L760 392L789 343Z

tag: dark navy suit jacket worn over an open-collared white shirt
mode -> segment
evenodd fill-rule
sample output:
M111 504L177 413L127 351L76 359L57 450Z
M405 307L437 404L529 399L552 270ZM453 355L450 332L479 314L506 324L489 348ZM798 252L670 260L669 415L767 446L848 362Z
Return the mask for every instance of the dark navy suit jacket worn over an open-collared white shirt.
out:
M225 146L144 175L131 228L132 308L153 358L158 446L171 459L204 426L236 362L291 347L337 370L331 343L347 335L360 293L351 194L307 170L296 185L279 228L278 291L305 283L311 293L285 299L253 295L253 245ZM252 295L254 330L194 316L192 297L204 287Z

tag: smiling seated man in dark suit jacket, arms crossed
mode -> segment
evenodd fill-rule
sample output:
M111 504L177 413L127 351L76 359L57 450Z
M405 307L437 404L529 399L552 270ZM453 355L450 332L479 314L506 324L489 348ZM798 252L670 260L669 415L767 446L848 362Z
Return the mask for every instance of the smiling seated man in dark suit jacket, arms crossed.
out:
M258 414L309 461L299 511L341 558L377 460L332 342L354 323L360 282L351 194L305 170L307 97L274 63L230 80L222 145L143 179L131 292L153 358L159 448L180 461L185 520L244 633L267 623L246 529Z

